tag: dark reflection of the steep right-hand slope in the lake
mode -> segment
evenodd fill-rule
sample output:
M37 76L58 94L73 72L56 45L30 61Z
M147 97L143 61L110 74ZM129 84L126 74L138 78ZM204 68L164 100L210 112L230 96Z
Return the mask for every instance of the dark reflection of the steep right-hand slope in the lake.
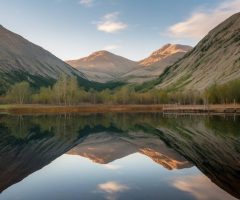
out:
M159 127L160 139L192 162L213 183L239 199L239 124L231 117L226 120L220 116L190 121L178 117L167 121Z

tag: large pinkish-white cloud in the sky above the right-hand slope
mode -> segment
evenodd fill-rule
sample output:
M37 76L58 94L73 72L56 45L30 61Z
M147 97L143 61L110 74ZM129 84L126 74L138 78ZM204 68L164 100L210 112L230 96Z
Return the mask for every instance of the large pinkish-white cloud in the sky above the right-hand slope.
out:
M240 11L240 0L225 0L215 9L194 12L185 21L172 25L168 33L177 38L201 39L211 29Z

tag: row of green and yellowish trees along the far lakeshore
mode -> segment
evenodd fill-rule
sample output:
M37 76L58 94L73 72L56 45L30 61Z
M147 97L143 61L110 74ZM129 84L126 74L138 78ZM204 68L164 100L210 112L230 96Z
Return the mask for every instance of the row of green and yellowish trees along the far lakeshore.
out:
M76 77L62 75L49 87L33 90L28 82L16 83L2 98L3 103L14 104L217 104L240 103L240 80L223 85L214 84L204 92L188 90L169 92L151 89L136 91L134 86L126 85L114 90L96 91L80 87Z

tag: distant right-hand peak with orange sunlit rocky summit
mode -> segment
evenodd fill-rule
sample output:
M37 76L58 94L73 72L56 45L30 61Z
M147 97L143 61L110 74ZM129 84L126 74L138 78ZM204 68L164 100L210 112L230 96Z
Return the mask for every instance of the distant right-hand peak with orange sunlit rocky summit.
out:
M144 82L155 79L191 49L192 47L187 45L166 44L154 51L148 58L139 61L139 65L143 67L125 74L123 79L128 82Z

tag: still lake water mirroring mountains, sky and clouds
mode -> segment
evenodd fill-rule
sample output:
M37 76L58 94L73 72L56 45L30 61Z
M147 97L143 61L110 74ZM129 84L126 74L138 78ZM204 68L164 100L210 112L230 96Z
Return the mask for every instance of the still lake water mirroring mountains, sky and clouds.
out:
M0 200L240 198L240 117L0 115Z

